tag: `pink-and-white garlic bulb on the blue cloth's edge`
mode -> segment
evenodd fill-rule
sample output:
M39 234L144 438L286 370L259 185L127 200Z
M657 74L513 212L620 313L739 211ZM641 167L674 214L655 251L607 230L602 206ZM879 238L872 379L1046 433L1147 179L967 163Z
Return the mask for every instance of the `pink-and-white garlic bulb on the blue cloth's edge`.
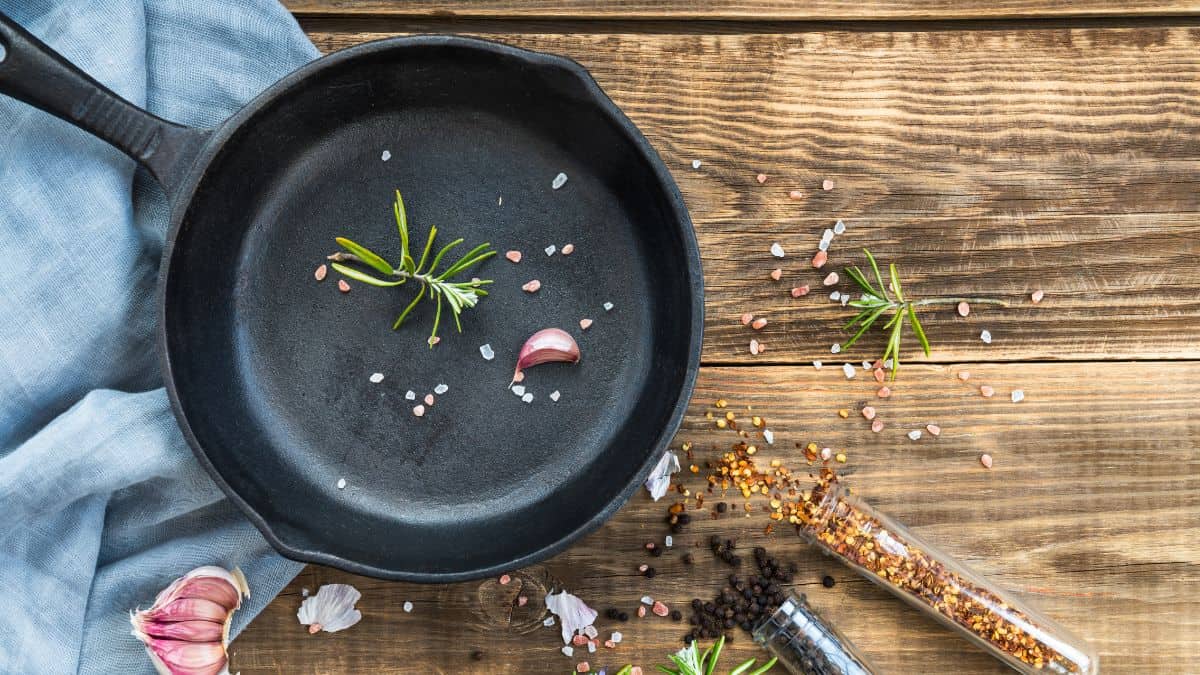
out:
M175 579L150 609L130 613L133 637L162 675L228 675L229 622L250 597L240 569L197 567Z

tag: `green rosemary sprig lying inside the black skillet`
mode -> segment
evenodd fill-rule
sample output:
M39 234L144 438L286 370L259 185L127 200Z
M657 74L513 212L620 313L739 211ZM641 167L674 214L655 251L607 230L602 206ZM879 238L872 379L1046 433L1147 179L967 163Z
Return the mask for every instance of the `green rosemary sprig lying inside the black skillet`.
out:
M404 210L404 199L400 196L400 190L396 191L396 203L392 205L392 211L396 215L396 227L400 229L400 264L392 265L388 261L379 256L374 251L356 244L344 237L338 237L337 243L346 249L347 252L337 252L329 256L332 262L332 268L338 273L346 275L355 281L361 281L362 283L370 283L371 286L402 286L408 281L418 281L421 285L420 291L416 292L416 297L408 303L404 311L400 312L396 317L396 322L392 323L392 330L396 330L404 323L408 315L416 307L421 301L421 298L428 297L431 300L437 300L437 310L433 313L433 330L430 333L428 344L432 348L438 341L438 325L442 323L442 305L445 304L450 307L450 315L454 316L454 323L458 328L458 333L462 333L462 322L458 319L458 315L462 310L467 307L474 307L479 299L487 295L487 291L482 288L491 283L491 280L470 280L470 281L452 281L452 277L457 274L467 271L472 267L486 261L487 258L496 255L496 251L491 249L491 244L480 244L464 256L455 261L454 263L446 265L445 269L438 271L438 263L442 262L443 256L450 252L451 249L462 244L462 238L455 239L454 241L443 246L433 257L430 258L430 253L433 251L433 240L437 238L438 228L436 226L430 226L428 238L425 240L425 249L421 252L420 261L413 258L408 247L408 213ZM426 265L425 263L428 263ZM342 264L342 263L360 263L367 265L376 271L386 275L390 279L378 279L371 274L367 274L360 269Z

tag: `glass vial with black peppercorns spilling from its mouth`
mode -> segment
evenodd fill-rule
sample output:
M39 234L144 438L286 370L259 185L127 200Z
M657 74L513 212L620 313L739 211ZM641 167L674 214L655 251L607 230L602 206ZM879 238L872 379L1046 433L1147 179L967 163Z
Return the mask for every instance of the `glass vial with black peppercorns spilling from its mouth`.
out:
M854 645L826 623L803 595L791 593L754 629L754 640L794 675L874 675Z

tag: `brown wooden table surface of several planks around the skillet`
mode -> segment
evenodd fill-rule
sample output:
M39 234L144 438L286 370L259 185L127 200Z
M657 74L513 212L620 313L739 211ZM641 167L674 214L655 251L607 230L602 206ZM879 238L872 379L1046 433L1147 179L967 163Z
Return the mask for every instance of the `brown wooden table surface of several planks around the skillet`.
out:
M458 32L569 55L643 130L688 202L706 273L704 368L674 448L690 441L703 465L731 442L704 417L712 402L752 406L776 436L764 456L803 465L796 442L844 449L859 495L1087 637L1105 673L1200 671L1200 5L288 5L325 52ZM847 233L818 273L806 257L838 219ZM773 241L797 253L781 263L784 282L768 277ZM875 401L869 377L847 382L838 366L874 358L882 339L833 357L847 310L823 292L786 292L820 287L863 246L901 261L910 293L1013 306L926 313L932 357ZM748 351L745 311L770 319L757 335L764 354ZM834 368L818 371L814 359ZM997 395L982 398L980 384ZM1010 402L1015 388L1024 402ZM882 434L856 412L869 401L888 420ZM926 423L941 437L905 437ZM990 471L982 453L995 458ZM766 534L761 513L697 512L677 550L653 558L659 575L644 579L635 568L650 560L642 544L666 533L666 503L640 492L569 551L514 571L526 607L494 580L419 586L311 566L233 644L232 670L566 673L578 659L541 625L545 589L600 609L631 609L643 595L683 607L712 597L728 568L704 548L685 567L680 550L727 532L796 561L794 586L884 671L1003 671L786 527ZM826 574L836 586L822 586ZM326 583L358 586L364 620L310 637L295 620L301 589ZM598 627L617 626L601 617ZM593 667L649 671L685 632L654 616L619 629L625 640L592 655ZM481 661L470 659L476 650ZM757 653L744 635L730 651L724 663Z

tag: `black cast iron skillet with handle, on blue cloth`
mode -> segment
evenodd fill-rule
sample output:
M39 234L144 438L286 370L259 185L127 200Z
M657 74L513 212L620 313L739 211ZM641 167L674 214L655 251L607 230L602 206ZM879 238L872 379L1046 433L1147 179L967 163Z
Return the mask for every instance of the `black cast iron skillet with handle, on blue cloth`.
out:
M301 67L203 131L120 100L5 17L0 43L0 92L120 148L170 196L166 387L196 456L282 554L415 581L524 566L612 515L678 429L703 312L691 222L578 64L462 37L383 40ZM551 190L559 172L570 179ZM391 330L413 291L342 294L335 274L313 279L336 235L395 259L395 189L419 241L437 225L445 240L524 253L476 271L493 294L433 350L428 306ZM542 252L566 243L571 257ZM520 289L530 279L536 295ZM530 369L526 404L506 384L548 325L575 334L583 359ZM439 383L450 390L415 418L406 392Z

